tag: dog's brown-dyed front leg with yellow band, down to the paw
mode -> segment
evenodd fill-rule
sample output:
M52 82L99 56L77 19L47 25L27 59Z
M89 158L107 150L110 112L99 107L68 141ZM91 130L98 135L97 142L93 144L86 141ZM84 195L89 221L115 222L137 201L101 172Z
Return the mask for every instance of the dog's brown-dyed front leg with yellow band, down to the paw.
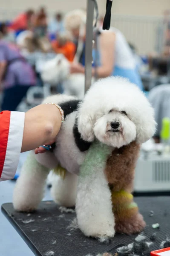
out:
M118 233L133 234L139 233L145 227L145 222L138 207L124 208L122 203L130 203L128 197L116 196L115 192L124 190L131 193L133 190L133 180L135 166L140 151L140 145L135 141L121 148L112 151L112 155L107 160L105 174L109 182L112 194L113 212L115 215L115 230Z

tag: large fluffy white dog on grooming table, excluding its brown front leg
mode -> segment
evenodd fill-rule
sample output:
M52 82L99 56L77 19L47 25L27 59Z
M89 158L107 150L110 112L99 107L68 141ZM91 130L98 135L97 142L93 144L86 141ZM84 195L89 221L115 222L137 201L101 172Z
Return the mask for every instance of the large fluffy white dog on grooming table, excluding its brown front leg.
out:
M113 150L134 140L141 144L150 139L156 129L153 108L135 84L115 77L93 84L81 103L65 95L51 96L44 102L60 105L65 121L53 153L32 152L24 164L14 189L14 208L36 209L49 169L60 164L67 172L64 179L53 179L54 201L65 207L76 204L78 225L86 236L114 236L111 192L104 170L96 180L88 180L88 186L78 186L79 168L96 139Z

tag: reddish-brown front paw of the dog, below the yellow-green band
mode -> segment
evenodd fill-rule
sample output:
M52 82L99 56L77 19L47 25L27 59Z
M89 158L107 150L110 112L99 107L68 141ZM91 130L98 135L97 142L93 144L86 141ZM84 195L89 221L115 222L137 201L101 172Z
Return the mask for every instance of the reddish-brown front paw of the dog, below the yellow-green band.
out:
M115 223L116 232L128 235L140 233L144 227L146 227L146 223L140 213L124 221L117 220Z

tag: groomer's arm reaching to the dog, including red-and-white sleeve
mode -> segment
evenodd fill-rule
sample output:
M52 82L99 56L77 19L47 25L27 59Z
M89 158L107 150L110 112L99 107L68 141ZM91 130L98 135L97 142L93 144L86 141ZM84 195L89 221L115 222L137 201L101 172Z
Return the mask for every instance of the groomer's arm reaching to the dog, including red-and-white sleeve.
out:
M20 152L54 141L61 127L61 113L54 105L43 104L26 113L0 113L0 181L12 179Z

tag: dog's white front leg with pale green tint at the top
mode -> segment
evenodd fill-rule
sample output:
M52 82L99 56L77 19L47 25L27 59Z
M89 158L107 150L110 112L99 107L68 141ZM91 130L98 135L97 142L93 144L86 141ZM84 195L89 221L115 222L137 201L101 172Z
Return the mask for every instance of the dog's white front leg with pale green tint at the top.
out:
M104 175L109 154L108 146L95 143L80 168L76 212L78 226L86 236L113 237L115 234L111 193Z

